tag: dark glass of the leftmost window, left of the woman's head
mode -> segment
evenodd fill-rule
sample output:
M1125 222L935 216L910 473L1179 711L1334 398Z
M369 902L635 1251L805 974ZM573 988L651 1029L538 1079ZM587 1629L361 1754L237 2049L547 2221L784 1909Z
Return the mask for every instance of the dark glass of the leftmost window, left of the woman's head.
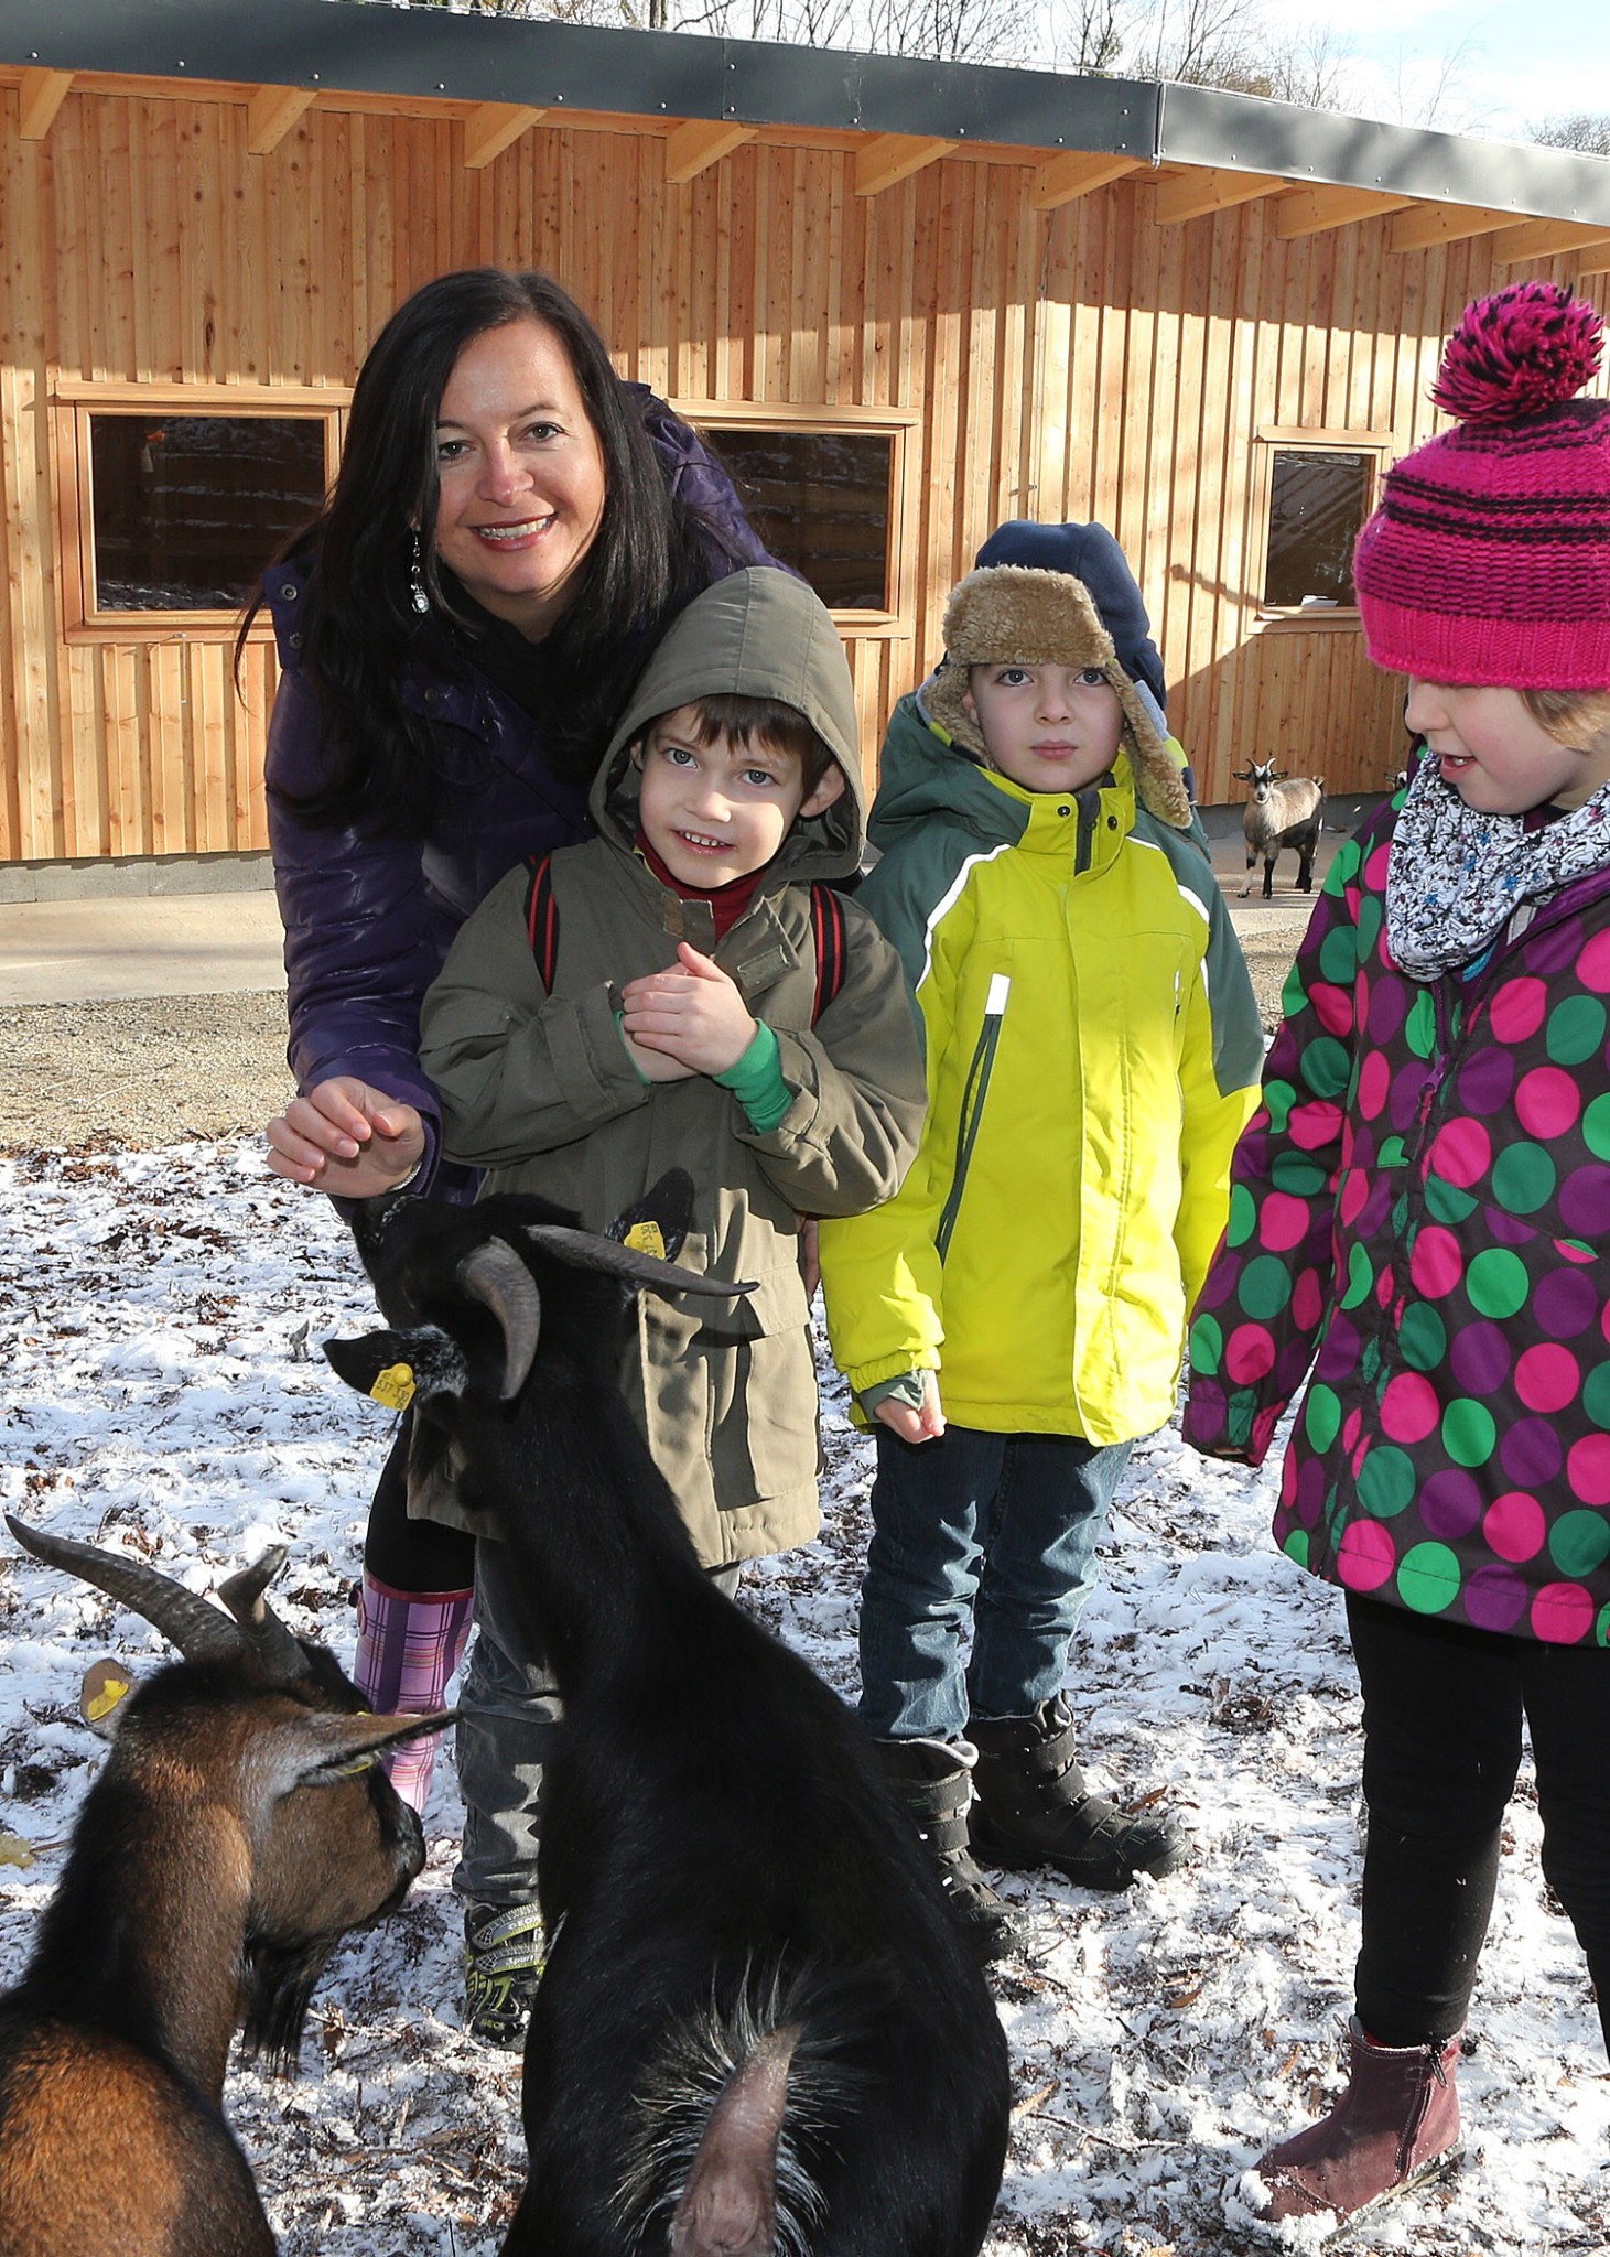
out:
M233 612L323 497L323 415L95 413L95 607Z

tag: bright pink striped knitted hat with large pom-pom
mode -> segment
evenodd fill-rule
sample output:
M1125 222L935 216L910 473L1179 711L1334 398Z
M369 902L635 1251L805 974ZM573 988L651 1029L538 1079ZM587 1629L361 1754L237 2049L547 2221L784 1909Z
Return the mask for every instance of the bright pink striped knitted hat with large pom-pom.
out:
M1389 673L1610 688L1610 402L1599 314L1556 282L1465 307L1432 399L1461 415L1382 481L1353 585Z

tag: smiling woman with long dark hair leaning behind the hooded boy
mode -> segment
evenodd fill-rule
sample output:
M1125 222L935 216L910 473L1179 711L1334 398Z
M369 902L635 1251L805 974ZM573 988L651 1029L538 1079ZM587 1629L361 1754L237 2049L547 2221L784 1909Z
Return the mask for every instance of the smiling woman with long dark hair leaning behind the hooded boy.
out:
M549 275L479 266L397 307L330 501L246 618L269 607L282 666L266 781L298 1095L269 1122L273 1174L472 1196L440 1162L420 998L504 871L587 833L592 767L668 618L765 562L698 436L616 377ZM472 1573L470 1537L409 1521L393 1451L364 1548L375 1709L440 1706ZM422 1747L393 1772L415 1803Z

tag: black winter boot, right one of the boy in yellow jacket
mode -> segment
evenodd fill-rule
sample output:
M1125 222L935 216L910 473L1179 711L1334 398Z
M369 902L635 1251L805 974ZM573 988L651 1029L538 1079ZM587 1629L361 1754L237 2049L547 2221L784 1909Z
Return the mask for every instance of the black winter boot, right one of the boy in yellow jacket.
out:
M1073 1718L1061 1700L1034 1715L966 1727L978 1747L973 1848L1009 1873L1055 1867L1082 1889L1127 1889L1136 1873L1172 1873L1190 1844L1172 1817L1125 1817L1091 1794L1073 1751Z

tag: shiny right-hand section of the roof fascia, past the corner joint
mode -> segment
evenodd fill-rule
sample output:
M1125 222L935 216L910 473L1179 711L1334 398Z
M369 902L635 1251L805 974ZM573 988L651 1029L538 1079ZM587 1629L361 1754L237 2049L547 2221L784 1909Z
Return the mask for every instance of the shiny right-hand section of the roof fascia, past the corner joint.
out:
M1274 172L1292 181L1377 187L1427 203L1475 203L1610 228L1610 163L1567 149L1425 133L1289 102L1165 86L1158 163Z

